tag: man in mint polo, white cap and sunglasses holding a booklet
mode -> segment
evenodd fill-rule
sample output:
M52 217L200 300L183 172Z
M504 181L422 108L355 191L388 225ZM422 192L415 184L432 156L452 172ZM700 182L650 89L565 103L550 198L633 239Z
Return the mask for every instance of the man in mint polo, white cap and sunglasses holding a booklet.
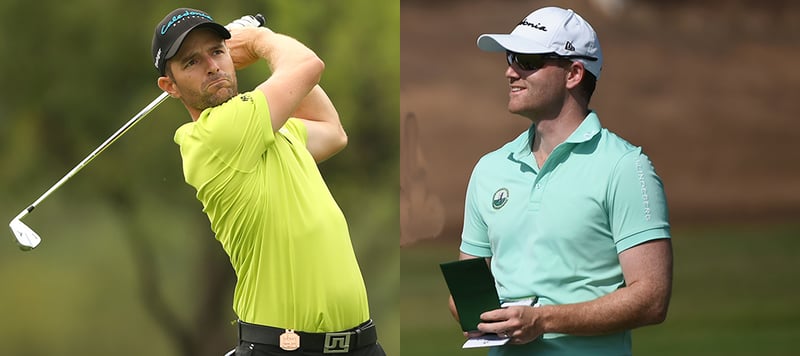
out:
M480 159L467 188L460 258L486 258L503 301L538 297L481 314L481 333L510 339L489 354L630 355L630 330L666 318L670 226L648 157L588 107L597 35L547 7L478 47L505 52L508 110L532 121Z

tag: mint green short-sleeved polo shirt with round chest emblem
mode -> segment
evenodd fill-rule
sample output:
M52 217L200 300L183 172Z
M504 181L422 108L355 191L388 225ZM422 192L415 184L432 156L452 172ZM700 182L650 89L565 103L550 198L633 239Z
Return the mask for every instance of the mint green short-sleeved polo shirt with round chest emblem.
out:
M579 303L624 285L618 254L670 238L661 179L648 157L590 112L539 167L535 127L483 156L467 187L461 251L491 257L502 300ZM604 350L604 351L603 351ZM545 334L490 355L625 355L630 332Z

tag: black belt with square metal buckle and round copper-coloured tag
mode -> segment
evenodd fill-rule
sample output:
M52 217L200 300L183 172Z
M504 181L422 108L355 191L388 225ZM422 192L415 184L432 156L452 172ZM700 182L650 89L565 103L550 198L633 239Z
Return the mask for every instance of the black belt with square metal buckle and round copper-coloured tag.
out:
M239 320L239 341L275 345L287 351L300 349L309 352L337 354L375 344L378 341L378 333L375 331L372 319L355 328L331 333L307 333L250 324Z

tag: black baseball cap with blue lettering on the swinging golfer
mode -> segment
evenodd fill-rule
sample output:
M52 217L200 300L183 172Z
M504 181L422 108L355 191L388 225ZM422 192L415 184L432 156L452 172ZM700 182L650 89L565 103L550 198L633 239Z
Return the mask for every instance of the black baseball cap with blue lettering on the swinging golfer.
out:
M231 38L225 26L214 22L211 16L200 10L175 9L158 23L153 34L153 62L162 76L165 75L167 60L178 53L186 35L199 27L210 28L224 39Z

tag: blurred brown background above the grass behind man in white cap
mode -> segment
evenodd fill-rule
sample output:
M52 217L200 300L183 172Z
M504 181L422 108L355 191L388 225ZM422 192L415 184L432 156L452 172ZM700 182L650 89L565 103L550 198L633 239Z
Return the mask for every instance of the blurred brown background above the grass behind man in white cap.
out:
M548 5L598 32L590 106L650 156L673 227L799 220L800 3L403 0L401 244L457 239L473 165L530 124L475 41Z

